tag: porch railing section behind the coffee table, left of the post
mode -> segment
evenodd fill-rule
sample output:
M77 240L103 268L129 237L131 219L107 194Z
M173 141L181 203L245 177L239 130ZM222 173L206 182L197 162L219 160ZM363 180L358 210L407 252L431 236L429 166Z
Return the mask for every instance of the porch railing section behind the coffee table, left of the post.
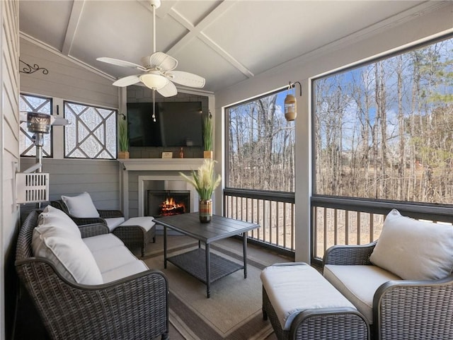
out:
M294 252L294 193L226 188L224 216L258 223L248 238Z

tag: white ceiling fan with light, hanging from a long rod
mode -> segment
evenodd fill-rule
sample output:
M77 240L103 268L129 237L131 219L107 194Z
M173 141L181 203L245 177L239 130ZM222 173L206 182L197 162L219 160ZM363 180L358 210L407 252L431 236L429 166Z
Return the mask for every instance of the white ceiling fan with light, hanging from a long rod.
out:
M178 90L173 83L192 88L202 88L205 86L205 78L189 72L175 71L178 61L164 52L156 52L156 8L161 6L161 0L150 0L149 3L153 12L153 54L142 57L142 65L108 57L101 57L97 60L142 71L142 74L120 78L113 85L125 87L141 82L144 86L153 90L153 102L155 91L164 97L176 95Z

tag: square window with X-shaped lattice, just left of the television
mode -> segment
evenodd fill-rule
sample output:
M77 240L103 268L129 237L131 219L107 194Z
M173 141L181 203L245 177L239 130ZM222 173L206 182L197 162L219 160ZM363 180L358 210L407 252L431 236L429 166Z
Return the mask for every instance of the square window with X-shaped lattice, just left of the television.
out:
M64 102L64 157L116 158L116 110Z

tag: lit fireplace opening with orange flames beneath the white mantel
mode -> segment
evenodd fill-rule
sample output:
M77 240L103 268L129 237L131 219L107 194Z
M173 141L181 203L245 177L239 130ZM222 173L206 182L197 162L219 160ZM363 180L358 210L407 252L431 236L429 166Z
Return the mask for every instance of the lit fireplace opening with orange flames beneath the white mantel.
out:
M189 190L147 190L147 216L171 216L190 212Z

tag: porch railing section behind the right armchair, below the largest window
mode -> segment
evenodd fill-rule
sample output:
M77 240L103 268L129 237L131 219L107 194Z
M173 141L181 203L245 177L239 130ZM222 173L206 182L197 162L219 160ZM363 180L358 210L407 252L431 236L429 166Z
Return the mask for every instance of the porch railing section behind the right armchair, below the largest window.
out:
M363 245L377 240L391 209L418 220L453 222L451 206L311 197L312 262L321 263L332 245Z

